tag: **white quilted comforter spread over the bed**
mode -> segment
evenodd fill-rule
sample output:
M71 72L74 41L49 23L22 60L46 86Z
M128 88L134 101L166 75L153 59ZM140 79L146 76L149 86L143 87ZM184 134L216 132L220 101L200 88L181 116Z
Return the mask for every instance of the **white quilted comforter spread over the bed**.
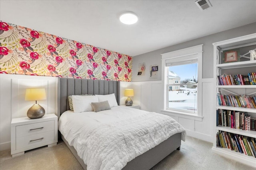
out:
M129 107L100 112L64 112L59 130L88 170L119 170L170 136L186 131L167 115Z

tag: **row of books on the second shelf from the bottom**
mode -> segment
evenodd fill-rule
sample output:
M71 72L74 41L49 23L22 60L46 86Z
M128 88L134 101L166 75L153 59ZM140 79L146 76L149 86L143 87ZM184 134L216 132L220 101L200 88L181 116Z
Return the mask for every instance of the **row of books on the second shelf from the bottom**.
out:
M216 125L245 131L256 131L256 118L251 117L247 112L217 109Z

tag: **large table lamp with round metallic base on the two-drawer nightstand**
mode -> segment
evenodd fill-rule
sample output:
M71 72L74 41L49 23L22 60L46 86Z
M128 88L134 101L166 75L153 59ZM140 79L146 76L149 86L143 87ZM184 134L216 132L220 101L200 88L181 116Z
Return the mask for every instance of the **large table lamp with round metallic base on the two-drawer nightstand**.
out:
M27 88L25 100L26 101L46 100L45 89L44 88ZM44 107L40 106L37 103L34 104L32 107L30 107L27 111L27 116L30 119L37 119L37 118L43 117L44 114L45 114Z

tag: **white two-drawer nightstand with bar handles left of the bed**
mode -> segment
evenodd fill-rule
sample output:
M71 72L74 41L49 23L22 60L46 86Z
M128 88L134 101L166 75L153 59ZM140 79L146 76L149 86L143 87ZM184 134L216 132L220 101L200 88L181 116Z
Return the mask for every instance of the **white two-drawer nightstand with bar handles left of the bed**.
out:
M26 150L58 142L58 117L47 114L38 119L28 117L14 118L11 122L12 157L24 154Z

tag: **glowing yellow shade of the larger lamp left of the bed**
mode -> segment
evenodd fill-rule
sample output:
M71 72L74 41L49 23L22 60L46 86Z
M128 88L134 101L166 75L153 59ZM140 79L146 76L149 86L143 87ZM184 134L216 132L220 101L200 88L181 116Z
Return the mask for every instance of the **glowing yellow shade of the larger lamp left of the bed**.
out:
M46 100L46 92L44 88L27 88L25 94L26 101Z

